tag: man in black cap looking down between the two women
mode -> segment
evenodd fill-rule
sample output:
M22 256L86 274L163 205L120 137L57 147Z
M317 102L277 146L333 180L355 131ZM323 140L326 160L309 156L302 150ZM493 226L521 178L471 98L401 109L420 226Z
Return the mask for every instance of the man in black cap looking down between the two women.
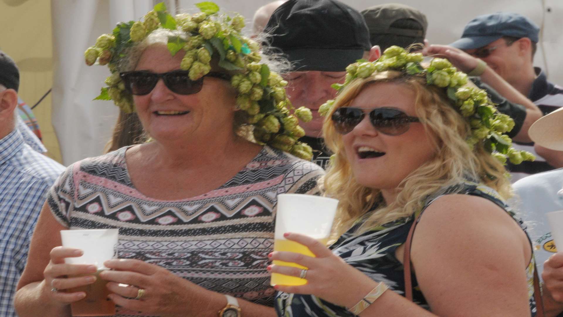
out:
M330 154L323 147L321 104L333 99L330 85L342 83L346 67L358 59L375 60L379 48L372 47L369 30L360 12L336 0L289 0L270 17L265 31L272 47L280 49L293 64L285 76L287 94L294 107L312 111L310 122L301 122L313 148L313 160L326 167Z

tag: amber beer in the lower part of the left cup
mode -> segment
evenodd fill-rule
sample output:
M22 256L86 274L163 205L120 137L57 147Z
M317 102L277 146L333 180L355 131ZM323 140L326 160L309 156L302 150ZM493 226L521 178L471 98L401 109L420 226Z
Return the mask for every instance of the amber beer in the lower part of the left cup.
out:
M94 274L96 281L89 285L69 289L69 292L86 292L86 297L70 304L70 311L73 316L113 316L115 315L115 303L108 298L110 294L106 287L107 280L100 279L98 270ZM84 276L81 275L81 276Z

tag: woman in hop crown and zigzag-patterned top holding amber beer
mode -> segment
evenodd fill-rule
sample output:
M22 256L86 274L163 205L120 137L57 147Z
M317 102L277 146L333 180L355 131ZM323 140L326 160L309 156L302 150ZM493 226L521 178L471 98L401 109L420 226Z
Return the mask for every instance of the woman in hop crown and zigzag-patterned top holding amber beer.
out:
M70 316L87 296L76 288L96 279L108 282L115 316L275 315L266 266L276 195L315 194L324 171L290 154L311 152L296 142L304 132L286 82L239 33L244 19L208 10L169 16L174 30L151 11L101 36L93 60L87 50L88 64L113 54L100 99L134 110L150 142L76 162L57 180L19 281L19 316ZM94 228L119 229L119 259L96 276L95 266L65 264L81 252L59 236Z

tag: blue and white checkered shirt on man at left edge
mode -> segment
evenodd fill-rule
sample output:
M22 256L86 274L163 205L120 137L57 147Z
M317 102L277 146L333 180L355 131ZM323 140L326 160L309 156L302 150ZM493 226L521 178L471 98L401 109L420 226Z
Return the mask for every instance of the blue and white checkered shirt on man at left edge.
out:
M34 151L15 129L0 139L0 316L17 316L14 294L47 192L64 166Z

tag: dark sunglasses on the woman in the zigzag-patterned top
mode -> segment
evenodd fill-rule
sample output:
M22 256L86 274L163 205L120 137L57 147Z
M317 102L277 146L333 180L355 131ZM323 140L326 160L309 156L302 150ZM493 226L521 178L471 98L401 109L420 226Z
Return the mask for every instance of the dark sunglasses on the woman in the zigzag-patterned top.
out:
M164 85L173 93L180 95L199 93L203 87L203 77L198 80L190 80L188 74L189 71L172 71L167 73L132 71L119 73L119 76L125 83L125 88L133 95L149 94L153 91L154 86L157 85L160 78L164 81ZM205 76L231 80L231 76L225 73L209 72Z

